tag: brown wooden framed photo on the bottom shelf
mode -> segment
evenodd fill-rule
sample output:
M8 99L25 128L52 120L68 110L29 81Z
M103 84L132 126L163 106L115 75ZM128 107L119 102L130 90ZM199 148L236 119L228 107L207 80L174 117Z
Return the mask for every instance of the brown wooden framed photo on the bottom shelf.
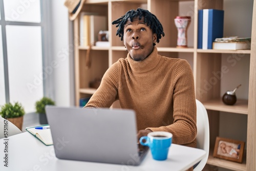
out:
M214 157L242 163L245 142L217 137Z

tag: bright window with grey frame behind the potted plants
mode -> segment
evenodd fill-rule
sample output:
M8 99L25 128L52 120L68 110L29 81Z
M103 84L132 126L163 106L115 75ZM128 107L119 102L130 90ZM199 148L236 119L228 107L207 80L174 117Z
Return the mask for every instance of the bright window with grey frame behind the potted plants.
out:
M0 0L0 105L18 101L26 113L33 112L45 94L47 4Z

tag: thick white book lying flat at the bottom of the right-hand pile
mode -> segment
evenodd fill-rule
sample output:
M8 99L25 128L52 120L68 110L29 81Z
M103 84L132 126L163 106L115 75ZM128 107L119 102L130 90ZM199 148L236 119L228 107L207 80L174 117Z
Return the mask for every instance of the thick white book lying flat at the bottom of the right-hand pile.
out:
M245 50L250 49L249 41L240 41L240 42L214 42L212 44L212 49L221 49L221 50Z

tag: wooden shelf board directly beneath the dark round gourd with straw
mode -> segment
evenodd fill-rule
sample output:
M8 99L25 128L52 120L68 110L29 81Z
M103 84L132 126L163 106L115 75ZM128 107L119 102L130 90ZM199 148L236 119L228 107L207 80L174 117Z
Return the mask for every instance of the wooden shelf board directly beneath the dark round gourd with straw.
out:
M248 100L238 99L234 105L226 105L221 99L207 100L203 102L207 110L248 114Z

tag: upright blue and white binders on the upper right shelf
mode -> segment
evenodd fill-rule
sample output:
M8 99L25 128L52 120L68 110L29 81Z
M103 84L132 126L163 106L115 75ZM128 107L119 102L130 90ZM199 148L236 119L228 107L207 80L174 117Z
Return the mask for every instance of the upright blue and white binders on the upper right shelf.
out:
M198 49L212 49L215 38L223 37L223 25L223 10L198 10Z

